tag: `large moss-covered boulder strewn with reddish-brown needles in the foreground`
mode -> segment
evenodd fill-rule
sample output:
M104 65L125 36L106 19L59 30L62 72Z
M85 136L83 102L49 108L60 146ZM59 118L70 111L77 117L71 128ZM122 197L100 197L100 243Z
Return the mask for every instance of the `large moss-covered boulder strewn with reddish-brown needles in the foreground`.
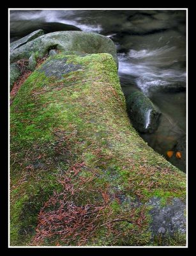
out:
M10 138L12 246L185 246L185 173L130 124L110 54L42 63L13 100Z

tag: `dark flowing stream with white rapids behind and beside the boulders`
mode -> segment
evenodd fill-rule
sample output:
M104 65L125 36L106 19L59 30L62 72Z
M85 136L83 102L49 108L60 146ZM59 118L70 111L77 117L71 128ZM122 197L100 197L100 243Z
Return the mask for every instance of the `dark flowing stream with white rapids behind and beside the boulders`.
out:
M140 136L163 156L185 136L185 10L11 11L10 31L20 37L23 28L38 21L71 24L109 36L117 47L124 94L141 90L163 113L158 130ZM185 171L185 164L179 168Z

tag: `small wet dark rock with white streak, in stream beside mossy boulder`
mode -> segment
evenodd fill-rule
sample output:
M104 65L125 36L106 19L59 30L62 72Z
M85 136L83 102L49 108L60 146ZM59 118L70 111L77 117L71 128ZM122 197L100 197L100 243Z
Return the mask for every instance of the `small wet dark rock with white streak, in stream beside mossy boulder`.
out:
M133 127L140 132L155 132L162 115L144 93L135 91L126 96L126 106Z

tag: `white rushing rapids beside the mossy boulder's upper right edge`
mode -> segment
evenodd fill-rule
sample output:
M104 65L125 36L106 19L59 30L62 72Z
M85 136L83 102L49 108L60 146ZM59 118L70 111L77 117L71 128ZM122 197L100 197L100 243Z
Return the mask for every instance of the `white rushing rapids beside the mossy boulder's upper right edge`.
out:
M146 95L151 88L185 84L186 72L177 67L178 60L170 57L176 47L130 50L128 54L119 54L119 76L126 74ZM175 67L176 66L176 67Z

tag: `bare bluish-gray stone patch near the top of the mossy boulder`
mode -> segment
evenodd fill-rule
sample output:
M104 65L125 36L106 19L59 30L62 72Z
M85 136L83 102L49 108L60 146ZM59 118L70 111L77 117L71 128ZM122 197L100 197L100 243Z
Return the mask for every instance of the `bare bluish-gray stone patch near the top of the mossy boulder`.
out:
M63 75L72 71L80 70L81 65L75 65L73 63L66 63L67 59L53 59L46 61L39 68L39 72L44 72L45 76L53 76L59 79L63 79Z

